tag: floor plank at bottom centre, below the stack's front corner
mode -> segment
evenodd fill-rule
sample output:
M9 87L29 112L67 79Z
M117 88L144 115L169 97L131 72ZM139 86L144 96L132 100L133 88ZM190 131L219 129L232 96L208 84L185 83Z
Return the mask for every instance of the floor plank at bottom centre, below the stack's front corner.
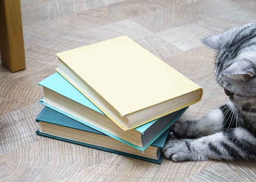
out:
M177 182L211 165L213 165L213 162L210 161L182 163L170 162L166 159L163 160L161 165L158 165L117 155L104 161L104 163L101 162L79 171L63 181Z

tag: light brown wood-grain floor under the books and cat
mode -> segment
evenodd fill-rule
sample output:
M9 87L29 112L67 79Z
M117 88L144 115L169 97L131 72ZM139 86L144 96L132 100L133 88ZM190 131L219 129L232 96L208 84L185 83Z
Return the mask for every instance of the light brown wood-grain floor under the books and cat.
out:
M255 0L21 0L27 68L0 64L0 181L254 181L255 162L153 164L36 135L38 82L56 53L128 35L204 88L193 119L227 101L213 74L214 52L200 39L256 20Z

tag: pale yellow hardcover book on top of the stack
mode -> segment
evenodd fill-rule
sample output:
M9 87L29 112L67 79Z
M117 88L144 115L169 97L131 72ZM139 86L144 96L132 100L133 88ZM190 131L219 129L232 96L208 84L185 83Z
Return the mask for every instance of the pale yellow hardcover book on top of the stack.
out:
M127 36L56 55L57 72L123 130L202 98L200 86Z

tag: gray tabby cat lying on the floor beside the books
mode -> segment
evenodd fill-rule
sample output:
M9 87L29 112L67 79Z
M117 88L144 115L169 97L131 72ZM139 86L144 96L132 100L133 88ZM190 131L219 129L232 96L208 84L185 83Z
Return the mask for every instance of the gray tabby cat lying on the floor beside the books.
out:
M218 53L215 74L230 101L197 120L175 122L170 134L183 139L162 151L173 161L256 159L256 23L202 43Z

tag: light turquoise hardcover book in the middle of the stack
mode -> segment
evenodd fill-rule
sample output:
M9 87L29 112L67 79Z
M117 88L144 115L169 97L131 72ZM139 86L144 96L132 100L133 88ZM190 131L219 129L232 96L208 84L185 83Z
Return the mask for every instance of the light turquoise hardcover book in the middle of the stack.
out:
M43 105L141 151L162 135L187 108L124 131L60 74L47 77L39 85L44 90L44 98L39 101Z

